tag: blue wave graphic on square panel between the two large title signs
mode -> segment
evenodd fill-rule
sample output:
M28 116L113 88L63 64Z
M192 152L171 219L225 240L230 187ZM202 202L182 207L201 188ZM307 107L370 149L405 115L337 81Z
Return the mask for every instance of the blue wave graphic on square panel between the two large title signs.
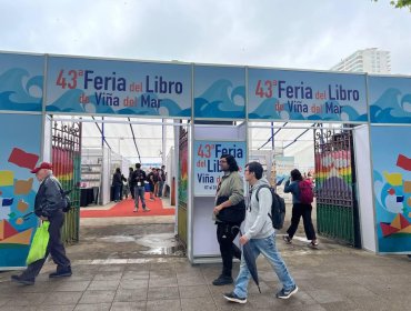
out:
M196 118L245 118L245 88L240 86L232 89L232 87L231 81L220 79L196 98Z

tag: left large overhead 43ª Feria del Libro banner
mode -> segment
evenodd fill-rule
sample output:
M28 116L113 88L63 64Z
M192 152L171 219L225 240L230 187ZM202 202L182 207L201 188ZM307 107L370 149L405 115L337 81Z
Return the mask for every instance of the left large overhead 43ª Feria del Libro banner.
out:
M191 66L50 57L49 112L191 117Z

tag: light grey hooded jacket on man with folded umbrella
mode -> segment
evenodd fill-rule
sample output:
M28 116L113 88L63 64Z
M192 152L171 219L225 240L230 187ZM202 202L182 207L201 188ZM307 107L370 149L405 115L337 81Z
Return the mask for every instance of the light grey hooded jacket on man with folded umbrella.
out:
M259 200L257 201L257 189L261 185L270 185L265 178L258 180L250 191L249 205L245 212L244 235L250 239L265 239L274 233L271 218L272 194L270 189L262 188L259 191Z

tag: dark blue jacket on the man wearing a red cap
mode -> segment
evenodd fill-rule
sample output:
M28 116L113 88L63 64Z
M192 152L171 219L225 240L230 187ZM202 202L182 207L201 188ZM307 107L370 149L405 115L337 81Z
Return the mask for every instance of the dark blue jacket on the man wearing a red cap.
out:
M34 200L34 213L38 217L52 217L62 210L64 201L61 194L60 182L53 175L48 175L40 184Z

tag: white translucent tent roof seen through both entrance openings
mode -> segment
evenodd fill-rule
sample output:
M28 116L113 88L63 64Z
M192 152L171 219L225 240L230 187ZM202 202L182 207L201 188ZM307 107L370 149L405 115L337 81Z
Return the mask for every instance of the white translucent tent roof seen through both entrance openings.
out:
M67 119L66 116L62 118ZM100 148L101 132L103 131L104 146L114 153L121 154L132 162L161 163L163 137L166 156L174 146L176 127L172 126L173 120L164 119L164 127L162 127L161 119L104 117L104 124L101 123L101 119L102 117L82 117L82 120L88 121L82 123L83 148ZM129 120L140 123L121 123ZM313 131L309 128L314 123L274 122L272 124L275 127L273 130L268 128L271 126L270 122L249 122L251 150L272 150L272 133L274 133L274 150L283 151L284 156L294 156L309 146L313 146Z

